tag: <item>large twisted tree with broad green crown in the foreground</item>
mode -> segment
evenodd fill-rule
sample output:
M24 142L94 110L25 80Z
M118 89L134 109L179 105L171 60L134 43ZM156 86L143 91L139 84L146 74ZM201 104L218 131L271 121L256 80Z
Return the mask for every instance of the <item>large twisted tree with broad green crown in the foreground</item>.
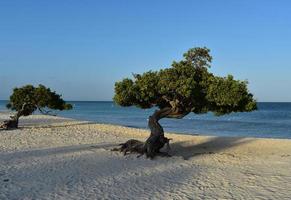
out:
M151 134L144 145L148 157L154 157L168 142L159 124L162 118L179 119L190 112L224 115L257 109L247 81L208 71L212 61L209 52L206 47L191 48L183 60L174 61L170 68L134 74L133 78L115 83L114 101L118 105L159 108L148 121Z

